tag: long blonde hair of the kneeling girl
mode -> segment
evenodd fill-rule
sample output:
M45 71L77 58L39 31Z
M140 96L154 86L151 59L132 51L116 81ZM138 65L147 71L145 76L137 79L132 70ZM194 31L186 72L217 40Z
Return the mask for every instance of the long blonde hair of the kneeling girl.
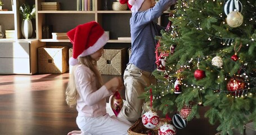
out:
M93 60L90 55L84 56L84 57L78 57L79 64L87 66L89 69L92 70L92 72L95 75L96 80L96 87L97 89L101 88L103 82L101 78L101 74L97 69L97 61ZM77 65L75 65L71 71L69 82L68 82L68 87L66 89L66 103L70 106L73 107L77 105L77 99L79 97L77 88L75 86L75 75L74 71L77 69Z

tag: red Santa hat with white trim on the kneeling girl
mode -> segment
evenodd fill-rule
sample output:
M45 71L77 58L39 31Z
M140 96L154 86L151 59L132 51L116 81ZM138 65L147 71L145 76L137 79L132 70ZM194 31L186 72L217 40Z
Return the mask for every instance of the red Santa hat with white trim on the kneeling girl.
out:
M78 25L68 31L67 35L73 44L73 56L69 59L72 66L78 64L78 57L95 53L109 40L109 36L96 21Z

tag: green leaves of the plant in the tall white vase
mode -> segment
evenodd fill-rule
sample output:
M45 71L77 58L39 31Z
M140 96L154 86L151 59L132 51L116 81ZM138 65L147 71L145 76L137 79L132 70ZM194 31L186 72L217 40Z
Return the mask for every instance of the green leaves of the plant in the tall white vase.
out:
M20 6L20 15L23 20L34 19L35 18L35 5L31 9L28 3L23 3Z

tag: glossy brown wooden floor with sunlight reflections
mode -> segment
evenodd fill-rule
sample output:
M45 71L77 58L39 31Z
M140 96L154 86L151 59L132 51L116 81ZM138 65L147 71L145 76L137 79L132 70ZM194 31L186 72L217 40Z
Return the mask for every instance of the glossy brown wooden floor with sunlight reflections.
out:
M104 82L112 77L103 76ZM0 75L0 134L64 135L78 130L77 111L65 102L68 80L68 73ZM195 119L177 135L214 135L216 128L205 118Z

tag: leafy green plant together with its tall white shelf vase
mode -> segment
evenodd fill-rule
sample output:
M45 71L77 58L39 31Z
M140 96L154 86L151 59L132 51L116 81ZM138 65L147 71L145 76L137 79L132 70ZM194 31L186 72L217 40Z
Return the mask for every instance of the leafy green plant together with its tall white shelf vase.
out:
M24 38L28 39L32 37L33 26L31 19L35 18L35 5L33 8L30 8L28 3L23 3L20 6L20 15L23 21L21 22L21 33Z

